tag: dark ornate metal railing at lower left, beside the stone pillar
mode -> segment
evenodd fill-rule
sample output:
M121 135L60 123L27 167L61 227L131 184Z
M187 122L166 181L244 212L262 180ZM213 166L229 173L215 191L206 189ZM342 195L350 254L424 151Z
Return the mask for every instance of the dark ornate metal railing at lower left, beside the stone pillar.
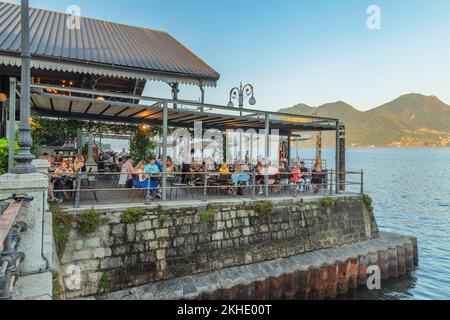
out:
M17 252L21 233L27 230L23 222L16 222L23 202L33 201L26 195L15 195L0 199L0 204L8 203L8 207L0 216L0 300L12 299L12 290L19 277L19 266L25 254Z

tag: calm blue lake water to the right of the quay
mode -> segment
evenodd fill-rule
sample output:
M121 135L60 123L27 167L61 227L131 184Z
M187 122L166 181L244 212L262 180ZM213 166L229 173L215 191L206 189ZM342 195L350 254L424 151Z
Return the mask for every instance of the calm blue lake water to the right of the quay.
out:
M333 151L324 158L332 164ZM450 148L348 150L347 170L361 169L380 230L416 236L419 268L382 291L342 298L450 299Z

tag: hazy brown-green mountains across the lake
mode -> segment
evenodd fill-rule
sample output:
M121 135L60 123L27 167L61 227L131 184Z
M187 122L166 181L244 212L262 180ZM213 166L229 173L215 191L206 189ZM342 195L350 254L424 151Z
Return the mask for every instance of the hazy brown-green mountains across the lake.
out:
M298 104L280 111L340 119L349 147L450 146L450 106L435 96L407 94L366 112L342 101L319 107ZM324 139L332 145L334 133Z

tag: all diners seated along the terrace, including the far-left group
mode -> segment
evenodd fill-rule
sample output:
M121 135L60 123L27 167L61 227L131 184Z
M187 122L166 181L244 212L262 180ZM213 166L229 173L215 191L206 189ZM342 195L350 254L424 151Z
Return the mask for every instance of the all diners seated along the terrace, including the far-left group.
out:
M203 162L192 158L190 162L185 161L176 166L171 157L167 157L165 168L162 157L150 157L148 162L140 161L136 165L129 155L121 158L120 174L116 176L118 188L146 189L156 198L161 198L161 174L164 169L169 188L175 182L178 187L186 189L203 188L206 181L208 187L226 190L229 195L243 195L252 185L255 185L256 193L262 195L266 178L272 194L281 193L282 186L289 186L290 190L296 189L299 192L312 190L318 193L324 187L326 177L326 171L321 169L320 163L316 163L310 171L303 161L290 164L283 154L276 164L271 161L266 164L262 159L256 165L239 161L218 164L211 158ZM77 155L73 161L66 161L58 158L58 155L51 157L44 154L42 159L50 162L48 201L61 203L64 199L73 197L72 191L77 188L77 179L81 178L82 173L86 173L83 156ZM85 176L87 177L86 174Z

